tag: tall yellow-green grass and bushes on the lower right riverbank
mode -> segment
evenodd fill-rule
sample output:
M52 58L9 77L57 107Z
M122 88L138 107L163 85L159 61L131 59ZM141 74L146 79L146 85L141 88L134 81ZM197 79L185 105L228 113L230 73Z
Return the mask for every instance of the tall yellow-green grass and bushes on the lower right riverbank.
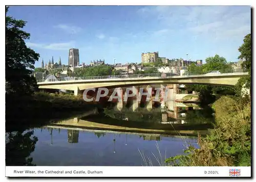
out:
M172 166L250 166L251 105L221 97L214 104L216 126L206 138L199 135L200 148L189 146L184 155L172 156ZM224 116L224 117L223 117Z

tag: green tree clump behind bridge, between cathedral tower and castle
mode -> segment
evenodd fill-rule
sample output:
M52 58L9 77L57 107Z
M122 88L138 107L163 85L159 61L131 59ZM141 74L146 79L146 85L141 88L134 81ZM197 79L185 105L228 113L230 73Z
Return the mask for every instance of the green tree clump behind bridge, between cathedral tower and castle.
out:
M77 72L77 76L79 77L87 77L87 76L107 76L112 74L113 67L109 65L98 65L98 66L90 66L81 68Z

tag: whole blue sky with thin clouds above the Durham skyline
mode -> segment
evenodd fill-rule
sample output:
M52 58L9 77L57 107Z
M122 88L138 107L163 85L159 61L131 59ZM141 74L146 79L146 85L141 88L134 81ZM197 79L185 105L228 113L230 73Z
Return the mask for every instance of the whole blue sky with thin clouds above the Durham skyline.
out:
M27 45L41 59L68 63L78 48L80 63L141 62L142 52L203 59L219 54L237 61L250 33L249 6L14 6L8 15L27 21Z

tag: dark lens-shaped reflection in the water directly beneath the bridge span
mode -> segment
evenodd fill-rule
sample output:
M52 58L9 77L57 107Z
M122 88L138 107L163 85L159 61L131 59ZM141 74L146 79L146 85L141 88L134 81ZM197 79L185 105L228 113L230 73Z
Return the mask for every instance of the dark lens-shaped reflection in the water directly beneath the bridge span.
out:
M139 104L137 100L132 100L133 104L119 104L120 102L106 108L104 110L105 115L125 121L146 121L162 124L214 122L212 109L209 106L202 108L196 103L179 103L173 100L150 101L144 102L145 104Z

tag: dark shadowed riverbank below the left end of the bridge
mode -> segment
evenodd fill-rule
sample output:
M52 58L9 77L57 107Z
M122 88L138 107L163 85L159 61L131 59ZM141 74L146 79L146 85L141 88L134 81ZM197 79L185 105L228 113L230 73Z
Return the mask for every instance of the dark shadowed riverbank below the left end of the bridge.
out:
M48 93L32 96L6 95L6 131L23 130L90 111L99 104L85 102L81 97Z

